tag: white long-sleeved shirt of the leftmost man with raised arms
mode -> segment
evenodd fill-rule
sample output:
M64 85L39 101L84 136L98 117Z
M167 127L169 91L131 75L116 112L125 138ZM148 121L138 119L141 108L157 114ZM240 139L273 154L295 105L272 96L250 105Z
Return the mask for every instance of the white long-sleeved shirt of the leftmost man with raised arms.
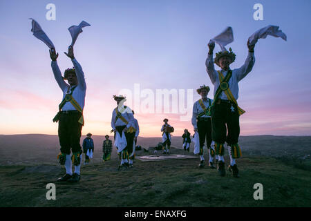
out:
M72 96L83 110L86 95L86 82L84 79L84 73L82 67L80 66L80 64L76 59L72 59L71 61L73 61L73 66L75 67L75 74L77 75L78 80L77 88L73 90ZM66 81L64 81L64 79L62 78L62 73L59 70L57 61L52 61L51 66L57 84L59 85L59 88L61 88L63 91L63 99L64 99L66 93L70 93L71 90L70 85L67 84ZM75 110L76 110L75 107L70 102L67 102L62 108L62 111L75 111Z

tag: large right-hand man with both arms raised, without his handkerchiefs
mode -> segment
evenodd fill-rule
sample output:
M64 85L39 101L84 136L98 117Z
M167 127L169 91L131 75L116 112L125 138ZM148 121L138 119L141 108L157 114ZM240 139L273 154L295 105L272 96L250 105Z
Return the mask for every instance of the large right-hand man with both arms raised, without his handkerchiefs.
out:
M238 146L238 137L240 135L239 117L245 113L236 100L238 99L238 81L241 81L253 68L254 46L249 45L248 56L245 64L241 68L231 70L229 64L236 59L236 55L232 49L220 51L216 53L213 59L213 50L215 43L208 44L209 53L206 60L207 73L214 84L214 102L211 104L211 122L212 122L212 138L215 142L216 154L218 157L218 173L220 176L225 175L224 144L227 142L229 146L230 165L229 171L233 177L239 177L238 166L236 166L236 158L241 157L241 149ZM214 61L215 60L215 61ZM221 70L216 71L214 62Z

